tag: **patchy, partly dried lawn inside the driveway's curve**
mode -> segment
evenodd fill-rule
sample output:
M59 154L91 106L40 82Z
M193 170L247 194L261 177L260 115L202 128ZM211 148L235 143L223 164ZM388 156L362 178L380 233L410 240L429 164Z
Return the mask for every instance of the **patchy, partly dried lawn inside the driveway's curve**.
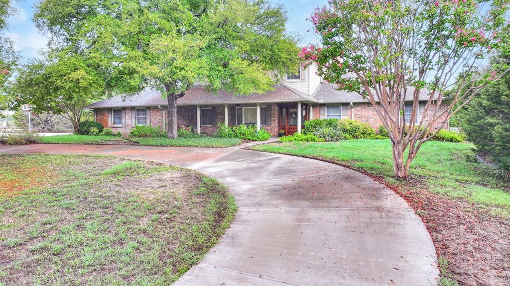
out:
M0 155L0 285L168 285L235 209L225 187L188 169Z

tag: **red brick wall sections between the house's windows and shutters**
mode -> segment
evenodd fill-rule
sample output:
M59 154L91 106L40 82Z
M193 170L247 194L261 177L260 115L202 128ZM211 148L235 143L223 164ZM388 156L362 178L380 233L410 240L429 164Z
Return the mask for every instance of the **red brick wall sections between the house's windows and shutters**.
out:
M368 123L373 128L377 129L379 125L381 124L379 117L377 116L377 113L375 112L374 107L370 103L353 103L353 106L350 106L347 104L347 118L348 119L354 119L358 120L364 123ZM257 104L236 104L236 105L228 105L227 106L227 112L228 112L228 126L235 125L236 115L235 113L232 113L233 107L256 107ZM272 136L278 135L278 116L279 116L279 108L277 104L261 104L261 106L271 106L271 123L267 126L262 125L265 130L267 130L269 133L271 133ZM225 121L225 106L224 105L201 105L201 107L208 108L208 107L216 107L216 124L213 124L211 126L204 126L202 125L200 127L201 133L206 135L213 135L217 131L217 124L219 122ZM381 108L381 107L379 107ZM447 108L447 105L442 104L439 107L439 112L444 111ZM110 127L114 132L121 131L124 134L129 133L131 128L134 127L134 113L132 112L133 108L126 107L125 108L125 127ZM149 109L150 114L150 125L151 126L166 126L166 108L161 109L158 106L152 106ZM197 117L196 117L196 105L190 105L190 106L177 106L177 126L178 128L181 127L189 127L192 126L193 128L196 128L197 124ZM354 111L354 115L352 115L352 112ZM95 112L95 120L101 124L105 128L108 127L108 108L96 108L94 109ZM307 112L308 111L307 109ZM433 108L430 108L425 115L425 121L429 121L432 117ZM307 114L308 117L308 114ZM320 105L313 105L313 118L317 119L320 118ZM446 115L443 115L440 120L436 121L433 125L433 129L438 129L441 127L443 120L446 119ZM448 128L448 122L445 124L444 128Z

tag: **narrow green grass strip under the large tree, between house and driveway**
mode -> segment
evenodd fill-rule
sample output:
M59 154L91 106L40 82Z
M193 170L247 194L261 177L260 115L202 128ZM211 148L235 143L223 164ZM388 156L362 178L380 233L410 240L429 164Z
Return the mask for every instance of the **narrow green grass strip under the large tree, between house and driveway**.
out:
M239 145L237 138L123 138L117 136L56 135L44 136L41 143L50 144L137 144L142 146L213 147L224 148Z

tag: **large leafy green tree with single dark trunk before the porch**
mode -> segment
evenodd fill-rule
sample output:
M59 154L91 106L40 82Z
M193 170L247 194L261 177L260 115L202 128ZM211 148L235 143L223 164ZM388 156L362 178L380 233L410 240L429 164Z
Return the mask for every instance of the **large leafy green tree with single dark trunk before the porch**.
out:
M34 20L56 47L101 65L112 93L161 91L169 138L177 137L176 100L195 82L260 94L299 64L285 10L265 0L42 0Z

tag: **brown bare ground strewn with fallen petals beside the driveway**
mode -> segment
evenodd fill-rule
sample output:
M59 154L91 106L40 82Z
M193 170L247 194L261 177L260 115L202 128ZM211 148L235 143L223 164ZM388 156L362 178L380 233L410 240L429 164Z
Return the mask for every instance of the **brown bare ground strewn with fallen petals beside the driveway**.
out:
M424 189L397 191L419 213L462 285L509 285L510 223L461 199Z

